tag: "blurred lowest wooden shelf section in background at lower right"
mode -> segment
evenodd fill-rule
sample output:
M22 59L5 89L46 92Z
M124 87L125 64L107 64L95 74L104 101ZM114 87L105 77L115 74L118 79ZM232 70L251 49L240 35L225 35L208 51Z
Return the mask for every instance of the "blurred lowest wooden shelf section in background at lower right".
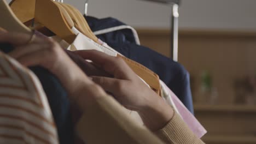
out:
M206 107L206 108L203 108ZM195 116L206 128L207 136L255 136L256 114L254 109L228 106L196 106ZM232 107L232 106L231 106Z

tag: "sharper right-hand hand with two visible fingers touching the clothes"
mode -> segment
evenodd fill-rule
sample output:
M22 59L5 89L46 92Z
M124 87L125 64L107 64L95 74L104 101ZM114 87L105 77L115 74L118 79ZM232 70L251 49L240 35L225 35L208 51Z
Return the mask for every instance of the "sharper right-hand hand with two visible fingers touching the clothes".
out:
M96 50L75 53L113 75L113 78L92 76L92 80L127 109L137 111L150 130L159 130L170 121L173 116L172 108L139 79L122 58L108 56Z

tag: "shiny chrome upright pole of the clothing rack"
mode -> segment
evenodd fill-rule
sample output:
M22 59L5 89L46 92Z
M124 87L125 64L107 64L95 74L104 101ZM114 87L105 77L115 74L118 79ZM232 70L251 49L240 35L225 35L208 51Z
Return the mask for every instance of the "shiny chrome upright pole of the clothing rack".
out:
M171 56L173 61L178 61L178 8L180 0L143 0L171 6Z

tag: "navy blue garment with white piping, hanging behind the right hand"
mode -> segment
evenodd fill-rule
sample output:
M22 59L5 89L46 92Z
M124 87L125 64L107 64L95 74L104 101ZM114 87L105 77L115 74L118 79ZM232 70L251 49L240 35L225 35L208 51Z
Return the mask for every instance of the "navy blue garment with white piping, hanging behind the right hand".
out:
M86 16L92 31L99 31L110 27L125 25L125 23L111 17L97 19ZM190 78L188 71L179 63L155 52L148 47L137 45L130 29L109 32L97 35L113 49L125 57L136 61L159 75L160 79L177 95L187 109L194 113L193 100L190 89Z

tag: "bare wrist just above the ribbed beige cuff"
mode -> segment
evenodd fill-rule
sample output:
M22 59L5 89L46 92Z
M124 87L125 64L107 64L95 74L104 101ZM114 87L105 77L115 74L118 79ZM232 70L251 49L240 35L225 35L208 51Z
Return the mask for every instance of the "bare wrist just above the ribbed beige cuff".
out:
M152 99L152 103L148 103L138 113L148 129L157 131L170 122L174 111L162 98L156 97Z

